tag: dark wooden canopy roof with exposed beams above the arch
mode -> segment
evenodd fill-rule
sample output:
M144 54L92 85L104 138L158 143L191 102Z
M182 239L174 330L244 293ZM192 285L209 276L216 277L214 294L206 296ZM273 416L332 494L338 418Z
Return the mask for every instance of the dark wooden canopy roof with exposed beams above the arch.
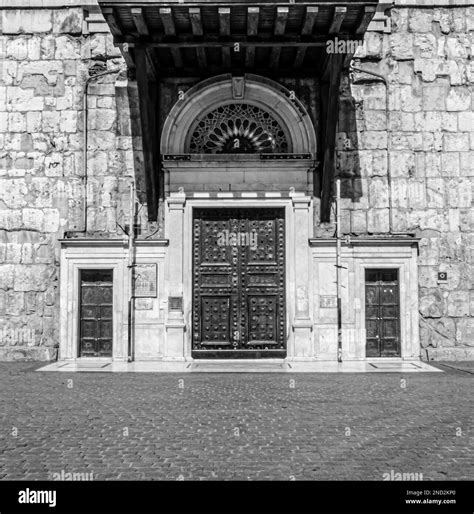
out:
M378 0L99 0L128 65L146 47L150 74L212 75L258 70L312 75L326 41L361 39ZM153 78L153 77L151 77Z

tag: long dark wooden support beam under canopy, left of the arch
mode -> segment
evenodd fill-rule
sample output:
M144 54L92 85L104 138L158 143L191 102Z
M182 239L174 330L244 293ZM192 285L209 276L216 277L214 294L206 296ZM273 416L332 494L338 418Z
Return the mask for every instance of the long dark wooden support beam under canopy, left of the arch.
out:
M135 49L137 64L137 86L142 129L143 159L148 208L148 219L156 221L158 216L159 156L157 154L156 88L151 88L147 74L147 56L143 47Z

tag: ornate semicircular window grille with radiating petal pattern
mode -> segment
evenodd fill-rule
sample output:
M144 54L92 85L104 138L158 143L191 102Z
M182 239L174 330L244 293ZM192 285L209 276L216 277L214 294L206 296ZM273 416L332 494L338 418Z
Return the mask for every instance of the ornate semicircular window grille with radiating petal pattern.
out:
M190 153L288 153L280 123L260 107L229 103L204 115L194 127Z

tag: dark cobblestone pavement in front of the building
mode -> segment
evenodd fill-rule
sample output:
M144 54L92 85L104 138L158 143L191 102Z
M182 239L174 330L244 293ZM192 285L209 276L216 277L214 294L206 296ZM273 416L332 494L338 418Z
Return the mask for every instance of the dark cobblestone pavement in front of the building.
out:
M466 370L181 377L35 367L0 363L0 479L474 476Z

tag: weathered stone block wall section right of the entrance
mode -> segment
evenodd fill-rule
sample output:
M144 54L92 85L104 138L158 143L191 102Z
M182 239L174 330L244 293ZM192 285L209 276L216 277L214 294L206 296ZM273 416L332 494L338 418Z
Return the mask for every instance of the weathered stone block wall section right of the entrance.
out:
M472 7L397 7L391 33L367 33L353 64L385 75L388 118L382 81L354 72L341 86L343 232L391 226L421 238L420 334L430 359L474 357L473 20Z

